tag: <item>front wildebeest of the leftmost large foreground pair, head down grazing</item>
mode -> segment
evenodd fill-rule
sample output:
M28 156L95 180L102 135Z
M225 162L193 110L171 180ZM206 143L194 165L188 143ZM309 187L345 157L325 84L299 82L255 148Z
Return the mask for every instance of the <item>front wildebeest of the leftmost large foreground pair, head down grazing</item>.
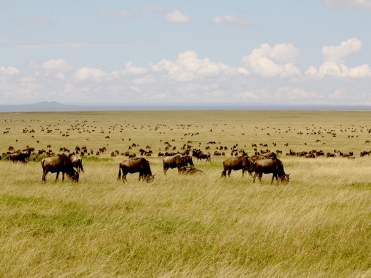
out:
M62 181L64 180L64 173L73 181L79 181L79 173L73 167L70 159L64 154L44 158L41 160L41 166L43 167L42 181L46 181L45 177L48 172L57 173L56 180L59 172L62 172Z

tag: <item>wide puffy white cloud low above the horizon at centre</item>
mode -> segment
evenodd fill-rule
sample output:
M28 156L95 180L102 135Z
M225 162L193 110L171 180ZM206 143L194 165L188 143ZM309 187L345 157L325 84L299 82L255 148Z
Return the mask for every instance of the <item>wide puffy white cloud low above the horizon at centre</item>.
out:
M199 59L194 51L186 51L179 54L175 62L163 59L158 64L152 65L151 68L155 72L166 71L169 78L182 82L220 74L248 74L245 68L232 68L223 63L214 63L209 58Z

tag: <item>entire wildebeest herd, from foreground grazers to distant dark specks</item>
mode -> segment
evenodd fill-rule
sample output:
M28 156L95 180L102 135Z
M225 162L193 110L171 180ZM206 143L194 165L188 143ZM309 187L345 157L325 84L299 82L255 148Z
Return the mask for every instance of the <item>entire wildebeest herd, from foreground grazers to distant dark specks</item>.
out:
M32 120L31 120L32 121ZM30 121L30 122L31 122ZM5 124L10 124L11 121L6 121L3 120L3 123ZM103 127L97 127L95 125L95 121L93 121L90 125L88 124L88 121L82 121L78 122L76 120L75 124L72 124L71 121L66 121L68 124L64 124L64 128L66 130L62 131L62 125L59 125L59 123L55 124L54 126L51 124L40 126L39 129L37 129L35 126L29 126L28 128L23 128L22 133L24 136L31 136L32 139L36 141L37 144L41 144L40 140L38 138L35 138L38 136L39 133L43 132L43 135L51 134L55 136L57 133L59 136L60 134L65 140L66 137L73 136L74 134L76 135L77 133L88 133L89 138L93 138L90 136L93 136L95 133L105 133L104 135L101 135L103 140L106 142L108 141L113 141L112 139L114 138L114 135L123 133L124 130L128 130L129 128L133 130L143 130L148 132L153 132L152 134L156 133L158 135L161 134L161 137L157 138L162 138L160 140L162 146L160 146L157 156L161 157L162 159L162 165L163 165L163 173L166 176L166 173L169 169L174 169L176 168L178 173L181 175L205 175L206 173L200 169L197 169L193 163L193 161L205 161L207 163L211 163L212 157L215 157L219 159L220 157L227 157L231 156L230 158L224 159L222 162L222 172L221 172L221 177L226 177L227 175L230 176L231 171L237 171L241 170L242 171L242 176L247 172L251 177L253 182L255 182L256 178L258 180L261 180L261 177L263 174L272 174L272 182L274 179L277 180L277 182L281 182L283 184L288 183L289 181L289 175L287 175L284 171L284 166L283 163L281 162L278 157L283 157L283 156L290 156L290 157L303 157L303 158L316 158L316 157L346 157L350 159L355 158L355 154L353 151L340 151L339 149L334 149L333 151L329 151L329 148L326 148L326 152L322 151L321 149L310 149L310 150L301 150L301 151L296 151L294 150L295 147L291 146L290 141L290 146L289 143L284 143L283 140L285 139L279 139L280 144L277 144L276 142L270 142L267 143L266 140L263 143L251 143L251 148L253 150L252 155L248 155L247 152L244 150L247 148L247 145L241 145L240 146L235 143L235 142L241 142L241 139L239 140L229 140L228 142L234 142L233 146L227 144L222 144L219 141L215 140L206 140L202 138L201 140L185 140L185 137L187 139L191 139L190 137L193 136L195 138L201 138L201 135L199 132L187 132L183 131L186 129L189 129L192 127L191 124L184 125L184 124L176 124L176 126L167 126L166 124L156 124L155 126L150 126L150 125L142 125L142 126L134 126L134 125L129 125L129 124L113 124L108 127L108 130L106 129L107 126ZM54 122L55 123L55 122ZM94 126L93 126L94 125ZM226 124L223 125L223 127L218 126L218 124L213 123L213 128L203 128L204 132L208 132L209 134L215 133L216 129L219 128L219 132L224 132L224 130L220 130L221 128L224 128ZM341 126L341 125L340 125ZM198 128L198 126L195 126ZM242 125L241 125L242 127ZM173 128L178 129L178 135L181 138L177 139L170 139L168 141L163 140L166 138L163 134L167 132L171 132ZM194 127L192 127L194 128ZM235 127L233 127L235 128ZM166 129L166 130L165 130ZM231 128L230 128L231 129ZM287 128L286 130L281 130L280 128L275 128L271 127L270 128L270 133L267 133L267 129L269 127L254 127L253 131L250 131L251 133L266 133L264 138L268 138L267 136L270 136L273 133L276 133L276 138L284 138L281 137L283 134L291 133L293 136L296 138L299 138L305 133L308 136L316 136L315 143L317 144L316 146L319 147L319 145L324 145L325 142L323 138L327 138L328 140L332 140L330 138L336 138L339 133L346 133L349 139L352 138L357 138L358 135L356 134L361 134L361 132L364 132L364 134L370 134L371 129L367 129L366 127L359 127L358 129L355 128L354 126L347 128L341 127L340 130L337 130L335 132L335 129L330 129L330 128L321 128L321 127L306 127L306 130L295 130L294 128ZM100 130L100 131L99 131ZM161 131L162 130L162 131ZM7 127L6 130L4 131L4 136L9 136L13 132L12 128ZM180 133L181 132L181 133ZM357 132L357 133L356 133ZM359 132L359 133L358 133ZM110 135L107 135L109 133ZM338 133L338 134L336 134ZM30 135L28 135L30 134ZM91 134L91 135L90 135ZM122 136L120 134L120 136ZM130 134L128 132L127 134ZM219 133L220 134L220 133ZM280 134L280 135L278 135ZM354 134L354 135L353 135ZM97 134L96 134L97 135ZM242 133L243 136L245 136L245 133ZM255 134L256 135L256 134ZM50 136L50 135L48 135ZM230 135L234 136L234 134ZM46 137L42 137L46 138ZM89 142L89 138L86 138L86 142ZM146 137L148 138L148 137ZM171 137L167 137L171 138ZM175 136L173 137L175 138ZM208 138L212 138L209 136ZM218 138L218 137L217 137ZM220 137L221 138L221 137ZM242 138L242 137L241 137ZM214 138L213 138L214 139ZM66 139L67 140L67 139ZM124 141L124 138L119 139L120 142L121 140ZM185 141L184 141L185 140ZM322 140L322 142L321 142ZM134 141L134 140L133 140ZM128 159L122 161L120 163L120 171L118 178L122 178L122 180L125 182L126 181L126 176L128 173L139 173L139 180L151 182L154 180L154 176L151 171L149 159L150 157L153 157L155 153L152 151L154 147L152 148L150 145L142 145L142 148L140 148L139 144L137 142L133 142L132 139L130 138L125 138L125 144L126 147L128 148L125 151L119 151L118 148L111 148L108 150L108 144L103 144L100 145L100 148L97 148L93 150L92 147L87 148L86 146L76 146L75 148L66 148L66 147L60 147L59 148L59 153L52 151L51 150L51 141L48 141L48 144L46 145L46 150L45 149L39 149L35 150L33 147L26 146L25 149L23 150L15 150L12 146L9 146L8 151L6 153L3 153L2 159L3 160L9 160L13 162L23 162L26 163L29 160L34 160L34 161L41 161L42 164L42 169L43 169L43 176L42 180L45 181L46 175L48 172L56 173L56 177L58 178L58 175L60 172L62 172L62 179L64 178L64 174L66 174L68 177L70 177L74 181L79 180L79 173L80 171L84 171L83 165L82 165L82 159L86 156L107 156L109 155L110 157L116 157L116 156L126 156ZM136 141L136 140L135 140ZM182 145L176 146L176 143L173 142L182 142ZM192 141L196 141L197 143L192 143ZM283 142L282 142L283 141ZM18 142L18 140L16 140ZM78 141L76 141L78 142ZM81 142L81 141L80 141ZM100 140L99 142L102 142ZM128 145L128 142L129 145ZM158 141L157 141L158 142ZM202 142L202 143L201 143ZM250 141L251 142L251 141ZM369 140L363 141L366 144L370 143ZM283 144L284 143L284 144ZM99 143L101 144L101 143ZM116 145L117 142L115 142ZM164 144L164 146L163 146ZM198 144L198 146L194 146L195 144ZM201 150L201 144L203 149ZM206 144L206 146L205 146ZM282 149L277 149L281 145L282 147L286 148L286 150L290 149L289 151L283 152ZM306 146L307 143L304 143ZM94 145L96 147L96 144ZM145 146L145 147L144 147ZM274 147L274 152L269 150L269 147ZM94 148L95 148L94 147ZM249 147L249 146L248 146ZM135 148L137 148L135 150ZM139 149L140 148L140 149ZM297 144L296 144L297 148ZM140 153L141 157L137 157L138 151ZM250 151L249 151L250 152ZM369 156L371 151L369 150L363 150L360 152L360 156ZM277 157L278 156L278 157ZM193 159L193 160L192 160ZM220 161L220 160L219 160ZM122 176L121 176L122 175Z

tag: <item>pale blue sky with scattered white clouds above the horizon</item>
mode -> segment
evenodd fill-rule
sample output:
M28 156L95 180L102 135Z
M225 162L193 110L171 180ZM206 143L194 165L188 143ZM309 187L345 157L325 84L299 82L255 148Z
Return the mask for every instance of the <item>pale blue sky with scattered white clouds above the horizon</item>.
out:
M0 104L371 105L371 0L0 0Z

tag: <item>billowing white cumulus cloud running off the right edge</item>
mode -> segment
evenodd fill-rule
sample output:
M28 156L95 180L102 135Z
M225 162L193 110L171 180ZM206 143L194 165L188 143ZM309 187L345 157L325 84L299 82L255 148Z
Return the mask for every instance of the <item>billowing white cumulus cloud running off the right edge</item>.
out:
M324 63L317 70L311 66L306 75L309 77L324 78L325 76L335 78L367 78L371 77L371 69L369 65L363 64L361 66L348 68L343 61L345 56L354 52L360 51L362 42L357 38L351 38L347 41L341 42L339 46L324 46L322 54Z

